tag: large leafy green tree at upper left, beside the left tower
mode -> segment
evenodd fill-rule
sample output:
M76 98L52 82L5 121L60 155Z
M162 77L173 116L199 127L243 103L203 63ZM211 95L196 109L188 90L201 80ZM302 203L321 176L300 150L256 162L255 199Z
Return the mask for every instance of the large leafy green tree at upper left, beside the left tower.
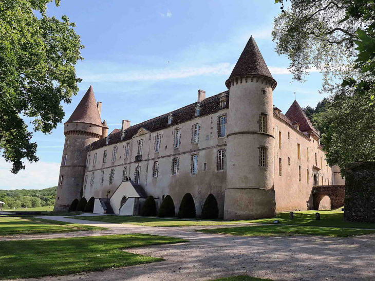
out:
M51 133L64 118L60 103L70 103L81 82L74 65L84 46L67 16L46 15L52 1L0 2L0 150L14 174L25 168L23 158L39 160L23 117L35 132Z

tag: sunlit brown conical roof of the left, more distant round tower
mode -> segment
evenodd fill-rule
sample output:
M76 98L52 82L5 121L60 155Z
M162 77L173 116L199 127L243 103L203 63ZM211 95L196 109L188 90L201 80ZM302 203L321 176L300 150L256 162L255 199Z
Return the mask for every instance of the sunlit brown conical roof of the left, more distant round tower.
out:
M72 115L65 123L81 122L102 127L97 101L90 86Z

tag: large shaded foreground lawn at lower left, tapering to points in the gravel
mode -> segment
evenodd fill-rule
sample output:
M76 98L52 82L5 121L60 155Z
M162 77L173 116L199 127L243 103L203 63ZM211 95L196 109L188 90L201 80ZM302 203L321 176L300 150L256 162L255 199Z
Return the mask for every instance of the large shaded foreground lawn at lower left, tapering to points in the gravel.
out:
M125 234L44 240L0 241L0 279L66 275L162 261L122 251L186 240Z

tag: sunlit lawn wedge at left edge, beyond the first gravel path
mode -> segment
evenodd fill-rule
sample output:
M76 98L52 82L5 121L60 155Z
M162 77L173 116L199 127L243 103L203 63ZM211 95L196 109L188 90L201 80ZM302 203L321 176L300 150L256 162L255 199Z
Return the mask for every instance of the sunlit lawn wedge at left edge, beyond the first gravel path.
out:
M0 236L105 229L107 228L42 218L0 217Z

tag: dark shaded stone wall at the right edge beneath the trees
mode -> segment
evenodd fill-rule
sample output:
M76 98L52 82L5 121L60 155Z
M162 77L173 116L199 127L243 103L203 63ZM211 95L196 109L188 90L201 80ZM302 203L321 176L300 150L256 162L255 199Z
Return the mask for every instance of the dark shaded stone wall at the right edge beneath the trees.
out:
M344 219L375 222L375 162L345 166Z

